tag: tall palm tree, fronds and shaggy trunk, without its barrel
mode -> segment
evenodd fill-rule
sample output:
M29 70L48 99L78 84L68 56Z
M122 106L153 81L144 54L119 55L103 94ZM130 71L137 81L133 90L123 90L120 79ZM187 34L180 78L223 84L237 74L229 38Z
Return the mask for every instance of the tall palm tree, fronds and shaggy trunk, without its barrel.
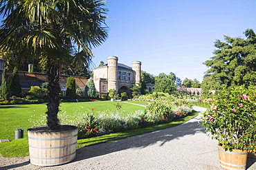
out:
M47 125L60 128L57 118L62 65L89 65L91 49L107 39L107 13L102 0L0 0L0 50L45 63L48 75Z

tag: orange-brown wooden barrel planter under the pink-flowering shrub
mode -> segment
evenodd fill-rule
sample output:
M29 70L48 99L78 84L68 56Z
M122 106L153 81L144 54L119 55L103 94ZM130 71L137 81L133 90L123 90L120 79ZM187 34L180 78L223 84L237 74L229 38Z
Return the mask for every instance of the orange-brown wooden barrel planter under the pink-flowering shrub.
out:
M246 169L247 151L232 149L232 152L225 151L218 145L219 164L223 169Z

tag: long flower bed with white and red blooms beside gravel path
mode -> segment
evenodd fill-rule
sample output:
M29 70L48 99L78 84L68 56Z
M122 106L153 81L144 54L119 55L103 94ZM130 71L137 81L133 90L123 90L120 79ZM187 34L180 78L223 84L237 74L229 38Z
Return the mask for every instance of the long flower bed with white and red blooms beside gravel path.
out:
M77 126L78 139L81 139L170 123L177 118L187 116L192 111L191 108L185 105L171 107L167 103L153 102L145 111L139 110L127 115L120 111L120 108L122 108L120 103L115 106L116 110L101 111L98 116L95 116L94 109L91 109L83 113L77 113L72 117L65 112L61 112L59 118L62 125ZM45 120L45 118L42 118L42 120ZM44 125L42 120L37 120L34 126ZM30 121L34 120L30 119Z

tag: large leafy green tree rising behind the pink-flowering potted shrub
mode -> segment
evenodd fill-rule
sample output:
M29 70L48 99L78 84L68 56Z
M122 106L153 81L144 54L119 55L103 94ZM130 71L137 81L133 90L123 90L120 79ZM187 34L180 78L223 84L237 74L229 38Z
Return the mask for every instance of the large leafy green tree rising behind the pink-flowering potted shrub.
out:
M256 36L253 29L244 32L246 39L224 36L226 42L217 40L214 56L204 64L210 67L215 81L228 87L256 83Z

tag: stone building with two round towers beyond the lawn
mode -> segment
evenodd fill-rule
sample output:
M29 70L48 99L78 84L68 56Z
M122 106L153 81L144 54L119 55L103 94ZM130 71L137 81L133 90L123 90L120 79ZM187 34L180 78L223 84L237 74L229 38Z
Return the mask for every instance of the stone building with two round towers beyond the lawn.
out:
M127 92L130 94L130 87L140 83L141 62L134 61L131 67L118 63L117 56L109 56L107 64L96 67L93 70L93 81L96 92L107 94L109 89L116 89L116 92Z

